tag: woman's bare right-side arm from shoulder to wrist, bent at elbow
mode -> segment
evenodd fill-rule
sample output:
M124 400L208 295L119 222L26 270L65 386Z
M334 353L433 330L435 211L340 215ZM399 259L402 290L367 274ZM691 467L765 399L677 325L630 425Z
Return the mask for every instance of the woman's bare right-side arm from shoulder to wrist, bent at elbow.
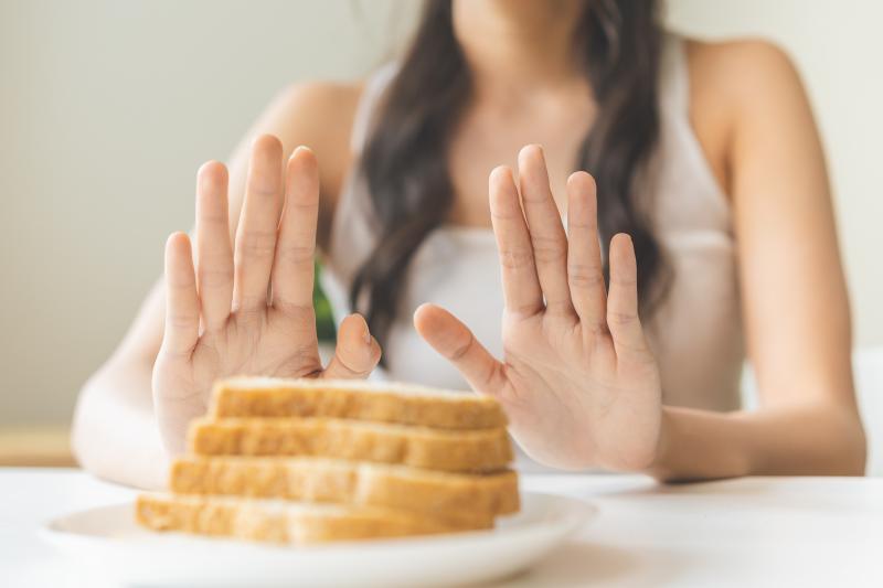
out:
M732 113L728 188L759 409L666 408L652 471L664 479L861 474L849 302L825 157L800 79L763 42L691 54L717 107Z

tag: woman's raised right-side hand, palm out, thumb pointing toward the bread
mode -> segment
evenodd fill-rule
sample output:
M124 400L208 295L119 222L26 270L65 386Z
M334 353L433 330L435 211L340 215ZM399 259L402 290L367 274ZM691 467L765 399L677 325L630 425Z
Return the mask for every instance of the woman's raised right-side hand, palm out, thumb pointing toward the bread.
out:
M490 174L506 310L503 361L449 312L421 307L415 327L479 393L498 398L511 431L538 461L561 468L649 467L661 428L659 371L638 320L631 239L610 243L605 291L595 182L567 181L568 235L552 199L542 150ZM525 223L526 218L526 223Z

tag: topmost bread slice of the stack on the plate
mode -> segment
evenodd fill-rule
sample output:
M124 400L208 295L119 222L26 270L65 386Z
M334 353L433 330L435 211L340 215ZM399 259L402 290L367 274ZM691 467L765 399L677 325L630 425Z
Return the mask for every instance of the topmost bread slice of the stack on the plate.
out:
M351 379L221 379L214 385L209 415L215 418L333 417L442 429L507 425L500 404L487 396Z

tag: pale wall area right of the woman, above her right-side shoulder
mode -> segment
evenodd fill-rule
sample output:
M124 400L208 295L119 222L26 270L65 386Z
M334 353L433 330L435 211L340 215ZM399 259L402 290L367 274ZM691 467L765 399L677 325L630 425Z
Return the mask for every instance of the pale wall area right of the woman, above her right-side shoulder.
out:
M671 0L700 36L758 35L797 62L825 140L855 341L883 344L883 2Z

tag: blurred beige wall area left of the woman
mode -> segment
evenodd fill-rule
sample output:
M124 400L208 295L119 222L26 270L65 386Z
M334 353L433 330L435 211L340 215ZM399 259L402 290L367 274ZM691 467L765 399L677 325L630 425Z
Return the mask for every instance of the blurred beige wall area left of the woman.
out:
M0 0L0 425L68 418L190 227L198 165L286 84L382 61L398 7Z

